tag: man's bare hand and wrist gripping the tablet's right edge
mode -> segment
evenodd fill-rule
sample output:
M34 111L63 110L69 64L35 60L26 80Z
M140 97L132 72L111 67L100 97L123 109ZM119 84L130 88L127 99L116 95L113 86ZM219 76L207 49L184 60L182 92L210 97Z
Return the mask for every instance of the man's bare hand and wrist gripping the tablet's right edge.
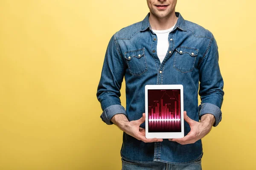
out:
M179 139L169 139L170 141L178 142L179 144L192 144L206 136L215 122L215 118L212 114L205 114L201 117L201 122L194 121L189 118L184 111L184 120L189 124L190 132Z

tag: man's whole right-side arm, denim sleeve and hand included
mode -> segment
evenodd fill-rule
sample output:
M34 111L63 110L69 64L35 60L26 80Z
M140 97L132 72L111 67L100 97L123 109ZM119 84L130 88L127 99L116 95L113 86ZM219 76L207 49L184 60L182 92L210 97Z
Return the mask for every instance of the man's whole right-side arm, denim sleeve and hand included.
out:
M206 136L212 126L221 121L221 105L223 102L223 79L218 65L218 46L215 38L210 41L204 57L199 61L199 80L201 105L199 105L199 119L190 119L184 111L184 120L189 124L190 132L181 139L169 139L180 144L195 143Z

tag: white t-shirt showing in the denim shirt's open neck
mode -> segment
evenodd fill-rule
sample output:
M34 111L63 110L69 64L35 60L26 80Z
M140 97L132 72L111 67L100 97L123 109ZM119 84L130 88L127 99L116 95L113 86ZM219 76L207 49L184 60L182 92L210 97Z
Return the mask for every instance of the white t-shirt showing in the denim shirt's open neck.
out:
M175 23L176 25L176 23ZM172 31L172 29L175 27L172 26L172 28L166 29L166 30L154 30L152 31L157 34L157 57L160 59L160 62L163 62L163 59L166 57L166 53L169 48L169 32Z

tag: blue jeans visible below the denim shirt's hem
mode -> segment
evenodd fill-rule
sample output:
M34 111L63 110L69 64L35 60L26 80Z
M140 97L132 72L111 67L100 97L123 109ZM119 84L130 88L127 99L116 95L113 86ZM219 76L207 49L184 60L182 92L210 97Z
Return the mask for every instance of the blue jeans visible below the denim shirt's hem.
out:
M188 164L134 163L122 159L122 170L202 170L202 166L201 159Z

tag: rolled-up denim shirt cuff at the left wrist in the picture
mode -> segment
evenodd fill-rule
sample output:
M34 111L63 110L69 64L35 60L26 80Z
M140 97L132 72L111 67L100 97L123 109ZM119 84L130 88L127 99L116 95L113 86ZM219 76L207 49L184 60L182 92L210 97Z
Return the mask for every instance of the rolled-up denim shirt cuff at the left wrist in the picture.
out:
M100 115L100 118L102 118L102 121L105 122L107 125L112 125L112 117L120 113L124 114L127 117L125 108L122 105L111 105L104 109L104 111Z

